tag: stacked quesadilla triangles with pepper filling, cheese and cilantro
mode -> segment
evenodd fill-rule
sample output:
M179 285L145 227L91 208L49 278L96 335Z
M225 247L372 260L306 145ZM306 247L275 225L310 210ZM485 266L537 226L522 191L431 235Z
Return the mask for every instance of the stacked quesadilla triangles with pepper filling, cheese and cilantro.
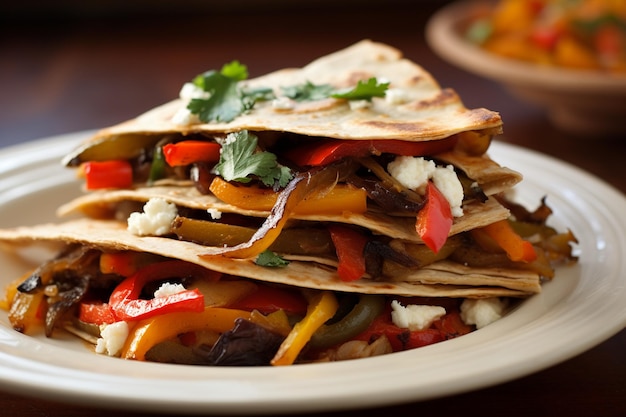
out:
M13 244L65 246L13 287L18 301L8 304L28 309L23 294L43 293L41 277L46 285L58 280L72 295L61 306L47 302L57 306L48 308L48 334L68 311L84 325L76 310L102 313L93 306L104 305L110 317L94 323L125 323L131 333L116 354L144 359L150 351L168 362L221 364L215 346L258 335L256 327L231 329L233 312L241 326L279 335L268 341L277 348L264 347L264 364L370 356L464 334L478 323L469 313L460 320L461 303L469 309L463 300L501 306L536 294L555 263L573 260L575 238L546 225L544 202L530 212L507 198L522 176L487 154L501 131L497 113L465 108L423 68L379 43L362 41L254 79L231 62L185 84L180 98L97 132L64 159L87 192L58 212L82 218L0 231ZM176 282L182 288L168 282L165 295L139 298L148 282L177 275L175 268L185 271ZM60 272L68 270L74 273ZM274 290L284 303L258 313L263 303L250 298ZM417 306L432 308L410 312ZM218 310L229 325L172 325ZM335 329L358 322L358 311L369 312L358 331L328 336L335 322ZM156 326L155 314L169 327ZM372 317L381 314L393 337L372 333ZM145 342L151 331L159 336ZM180 335L191 333L194 353L181 350ZM337 353L354 350L355 338L367 353ZM199 355L199 346L212 353ZM181 351L185 358L173 359Z

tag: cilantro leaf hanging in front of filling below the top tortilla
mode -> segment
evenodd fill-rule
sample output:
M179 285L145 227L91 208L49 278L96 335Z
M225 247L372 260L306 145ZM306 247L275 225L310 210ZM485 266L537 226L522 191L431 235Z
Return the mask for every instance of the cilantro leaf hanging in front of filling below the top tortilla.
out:
M280 166L273 153L257 152L257 143L258 138L247 130L230 133L214 171L226 181L248 183L255 176L267 186L278 182L284 187L293 176L291 170Z

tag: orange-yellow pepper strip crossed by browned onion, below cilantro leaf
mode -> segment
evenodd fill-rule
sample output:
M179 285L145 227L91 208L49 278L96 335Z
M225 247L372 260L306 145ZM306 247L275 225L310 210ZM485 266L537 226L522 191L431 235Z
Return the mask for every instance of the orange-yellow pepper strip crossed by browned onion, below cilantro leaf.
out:
M270 211L278 193L270 188L238 186L220 177L211 182L210 191L227 204L245 209ZM305 198L295 207L297 214L365 213L367 192L350 184L337 184L330 191Z

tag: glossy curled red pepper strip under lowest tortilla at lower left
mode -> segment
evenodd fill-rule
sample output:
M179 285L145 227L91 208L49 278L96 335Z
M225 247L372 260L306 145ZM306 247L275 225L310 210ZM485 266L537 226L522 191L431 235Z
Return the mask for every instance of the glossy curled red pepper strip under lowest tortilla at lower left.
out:
M207 269L184 261L164 261L148 265L134 275L124 279L113 290L109 304L118 320L134 321L153 317L155 315L204 310L204 296L198 289L185 290L177 294L152 299L139 299L144 285L174 277L210 277Z

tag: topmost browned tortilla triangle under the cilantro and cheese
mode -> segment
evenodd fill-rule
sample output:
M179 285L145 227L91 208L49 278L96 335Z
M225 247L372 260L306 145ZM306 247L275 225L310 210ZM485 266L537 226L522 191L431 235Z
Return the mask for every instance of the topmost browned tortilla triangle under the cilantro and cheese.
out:
M179 125L172 117L186 103L176 99L132 120L100 130L67 155L64 163L86 158L85 152L97 154L94 148L106 146L108 141L149 142L170 133L187 136L245 129L345 140L431 141L459 132L498 134L502 130L497 112L466 108L456 92L441 88L424 68L404 58L397 49L370 40L321 57L303 68L278 70L242 84L272 88L276 95L281 95L281 87L314 82L346 88L371 77L389 81L389 88L402 90L407 100L393 103L375 97L371 106L358 110L353 110L346 100L334 98L295 103L290 109L277 109L270 101L265 101L256 103L252 110L228 123Z

